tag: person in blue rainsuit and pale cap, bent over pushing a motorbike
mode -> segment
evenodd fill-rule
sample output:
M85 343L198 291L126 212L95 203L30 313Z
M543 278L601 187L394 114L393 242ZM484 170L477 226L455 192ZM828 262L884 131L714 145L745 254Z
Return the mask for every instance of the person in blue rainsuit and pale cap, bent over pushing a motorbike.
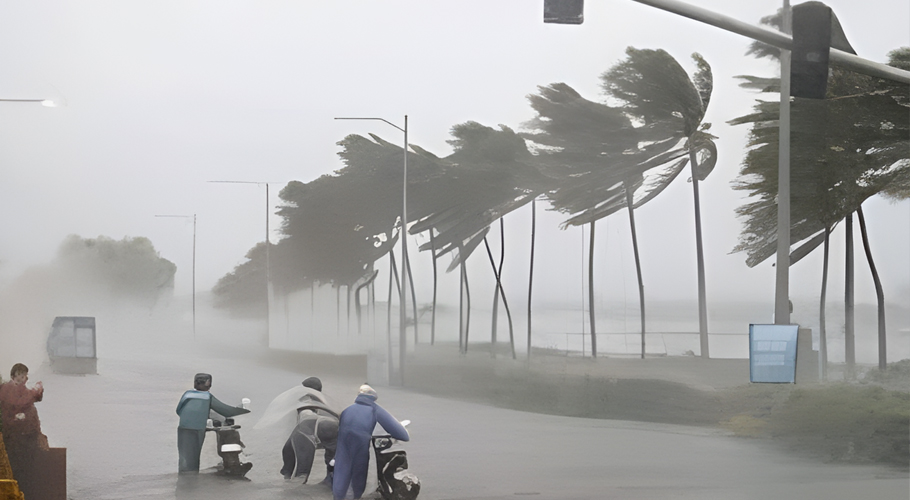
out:
M376 391L369 385L360 386L354 404L341 412L338 422L338 444L335 451L335 473L332 495L342 500L351 487L354 498L363 496L370 466L370 437L376 423L399 441L410 439L408 431L389 412L376 404Z

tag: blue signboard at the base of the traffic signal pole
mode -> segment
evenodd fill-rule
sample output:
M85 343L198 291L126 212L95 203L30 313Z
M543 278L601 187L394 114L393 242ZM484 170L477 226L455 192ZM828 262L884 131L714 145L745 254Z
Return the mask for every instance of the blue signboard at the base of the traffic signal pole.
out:
M794 383L798 333L799 325L749 325L749 380Z

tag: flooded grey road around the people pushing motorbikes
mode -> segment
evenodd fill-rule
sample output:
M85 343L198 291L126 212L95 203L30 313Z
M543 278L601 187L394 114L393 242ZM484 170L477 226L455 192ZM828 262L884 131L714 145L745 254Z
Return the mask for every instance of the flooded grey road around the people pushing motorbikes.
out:
M331 498L323 486L279 475L290 429L252 427L275 396L309 375L321 376L335 399L353 401L360 371L325 374L272 363L249 340L119 335L100 351L98 375L32 369L31 381L46 388L38 404L44 432L51 446L68 449L71 499ZM218 462L212 437L203 450L207 469L198 477L176 473L174 408L197 371L213 374L212 393L222 401L253 401L253 413L237 417L245 460L254 464L248 480L212 474ZM413 422L405 446L427 500L907 499L910 492L906 471L819 463L719 430L526 413L377 389L381 405ZM317 465L313 477L323 472Z

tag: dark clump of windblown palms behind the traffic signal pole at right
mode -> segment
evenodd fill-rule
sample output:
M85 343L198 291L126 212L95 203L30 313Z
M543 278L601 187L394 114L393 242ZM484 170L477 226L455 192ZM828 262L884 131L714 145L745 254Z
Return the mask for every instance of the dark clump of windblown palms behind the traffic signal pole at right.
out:
M892 51L890 63L899 66L902 57L910 59L910 49ZM744 77L743 86L766 92L777 92L776 79ZM862 203L882 193L895 199L907 196L902 186L910 184L910 138L907 123L908 89L842 69L833 69L829 78L828 97L814 101L794 99L792 104L791 162L799 165L791 178L791 239L802 244L791 252L793 265L819 245L827 244L827 235L841 220L847 228L846 280L846 353L847 363L854 362L852 305L852 214L862 210ZM747 190L756 201L737 213L745 219L740 244L734 251L747 252L747 265L754 266L774 253L776 245L777 128L775 102L760 101L755 113L730 123L751 123L749 145L743 161L741 178L735 189ZM859 217L860 231L866 233L865 218ZM872 261L868 236L864 248L879 307L879 366L886 363L884 294ZM822 269L822 298L827 285L827 251ZM824 315L824 303L819 307ZM819 319L823 329L825 321ZM825 332L820 332L825 341ZM851 368L852 369L852 368Z

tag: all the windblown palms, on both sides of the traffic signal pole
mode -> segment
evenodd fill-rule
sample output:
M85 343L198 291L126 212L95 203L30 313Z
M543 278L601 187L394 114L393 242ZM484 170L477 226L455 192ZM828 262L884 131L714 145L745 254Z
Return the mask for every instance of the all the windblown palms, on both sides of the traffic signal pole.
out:
M495 344L498 304L502 300L509 317L511 353L515 356L511 311L501 286L505 247L503 217L530 204L530 355L536 201L543 198L555 210L566 214L563 228L590 227L589 297L593 297L594 291L596 222L623 209L628 211L639 284L641 355L644 357L645 295L634 211L658 196L688 165L696 214L701 355L709 355L698 188L699 181L704 180L716 164L717 148L716 137L708 132L710 124L703 123L713 88L711 69L698 54L693 54L692 58L696 71L690 76L663 50L630 47L624 60L601 75L602 88L610 104L585 99L570 86L554 83L539 87L536 94L528 97L536 116L523 124L520 133L504 125L491 128L467 122L452 128L452 139L448 142L453 152L446 157L409 145L407 220L414 222L406 229L411 234L428 235L427 242L419 249L429 251L433 261L431 343L435 340L437 259L450 255L452 259L446 271L458 269L461 275L460 344L463 351L467 350L470 287L466 262L483 243L496 281L491 337ZM896 131L889 129L884 136L870 126L863 129L862 137L856 137L859 135L856 127L844 121L853 112L860 113L868 124L878 123L875 120L884 116L880 113L894 112L891 104L904 106L906 102L895 100L899 92L893 92L890 87L891 90L883 94L878 87L885 84L871 79L865 83L862 96L845 95L838 89L855 84L860 76L841 73L840 76L836 74L835 79L840 78L837 81L842 81L843 85L835 82L831 86L834 93L831 102L794 103L793 163L817 166L818 162L813 162L825 157L829 150L836 151L836 148L831 149L831 144L837 141L862 143L871 148L871 153L839 160L845 164L853 162L849 168L817 172L808 167L794 169L794 226L791 232L796 242L808 238L806 244L794 251L794 263L827 241L827 234L836 221L844 219L845 213L852 213L844 212L844 207L858 208L862 217L857 200L861 203L862 199L878 192L888 193L889 189L895 189L894 186L903 185L903 192L907 191L907 169L884 171L895 164L895 158L910 157L906 151L891 147L895 140L906 137L906 124L899 123ZM760 85L764 90L776 91L774 82L774 79L750 77L746 85ZM819 106L842 119L826 120L827 128L819 129L814 121L818 119L816 108ZM802 112L803 108L807 111ZM906 113L906 108L901 109ZM769 126L776 120L775 113L774 103L759 102L756 113L731 122L753 124L752 148L735 184L738 189L750 191L758 200L738 210L745 227L741 244L735 250L747 252L749 265L756 265L770 256L773 251L769 252L769 248L775 244L770 235L774 234L772 230L776 231L776 219L771 214L772 211L776 213L773 197L777 186L776 169L772 167L776 166L774 134L777 129ZM802 117L805 121L801 122ZM800 133L806 137L799 137ZM401 227L398 201L404 151L375 135L369 138L351 135L338 144L342 148L339 153L344 163L342 169L310 183L291 182L280 193L283 204L278 213L284 219L282 231L286 237L275 247L272 265L278 272L273 275L275 285L289 291L331 284L338 289L340 297L341 287L346 287L348 304L351 291L355 290L359 317L360 290L365 283L375 279L375 263L386 254L390 256L391 303L392 283L397 278L393 248L400 231L405 229ZM876 172L881 175L875 176ZM865 184L864 179L869 175L875 178L874 188ZM848 189L847 186L854 187ZM827 190L827 194L819 198L824 203L805 196L802 190L815 190L816 197ZM901 192L899 188L897 191ZM487 241L490 227L497 220L501 235L498 264ZM862 218L860 220L862 222ZM824 234L818 234L818 227L825 228ZM825 248L827 251L827 244ZM411 290L412 306L416 311L413 285ZM597 356L594 301L590 300L590 304L592 355Z

